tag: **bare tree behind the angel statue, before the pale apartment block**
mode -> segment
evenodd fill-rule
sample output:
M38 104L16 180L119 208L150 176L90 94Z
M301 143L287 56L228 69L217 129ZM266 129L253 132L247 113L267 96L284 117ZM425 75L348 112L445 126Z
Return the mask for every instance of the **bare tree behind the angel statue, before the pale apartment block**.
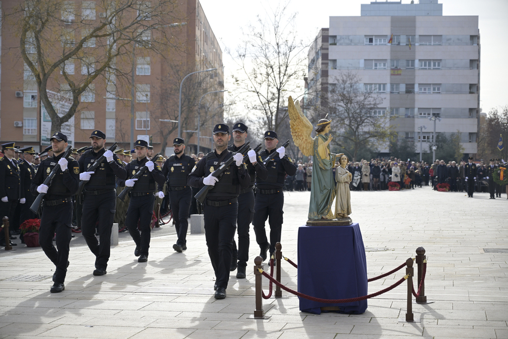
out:
M332 126L340 133L332 142L352 144L354 159L360 148L380 145L392 136L390 112L379 109L383 98L375 90L361 88L361 82L356 73L347 71L329 88Z

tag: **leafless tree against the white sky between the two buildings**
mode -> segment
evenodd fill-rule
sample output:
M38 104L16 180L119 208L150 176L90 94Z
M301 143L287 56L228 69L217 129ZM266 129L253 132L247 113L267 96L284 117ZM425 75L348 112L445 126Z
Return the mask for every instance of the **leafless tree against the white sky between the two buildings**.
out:
M259 111L266 129L278 131L288 118L288 93L302 91L306 46L297 36L296 14L288 14L289 5L279 5L267 19L258 16L255 25L248 25L245 40L235 55L241 75L233 80L247 95L247 109Z

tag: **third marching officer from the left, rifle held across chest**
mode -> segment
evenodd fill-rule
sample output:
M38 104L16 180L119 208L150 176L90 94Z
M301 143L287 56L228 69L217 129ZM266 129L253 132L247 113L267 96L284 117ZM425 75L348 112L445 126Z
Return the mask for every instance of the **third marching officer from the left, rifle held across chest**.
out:
M155 201L153 194L157 189L157 183L164 184L164 175L157 165L146 158L148 143L145 140L136 140L134 146L136 159L125 166L129 179L118 178L117 184L118 186L132 187L125 226L136 243L134 255L139 257L138 262L146 262L148 260L148 248L150 247L150 223ZM137 179L131 179L143 166L147 167L143 175Z

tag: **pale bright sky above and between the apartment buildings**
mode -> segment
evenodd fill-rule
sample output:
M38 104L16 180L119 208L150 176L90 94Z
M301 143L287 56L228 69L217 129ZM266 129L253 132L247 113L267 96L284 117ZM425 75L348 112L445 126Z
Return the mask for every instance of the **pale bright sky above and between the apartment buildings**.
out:
M416 0L417 2L418 0ZM242 39L241 28L254 23L257 15L265 16L266 0L200 0L208 22L223 50L226 88L235 63L225 52L235 50ZM272 0L276 4L278 0ZM360 16L360 5L366 0L292 0L297 12L297 29L305 43L310 43L320 28L329 26L330 16ZM410 0L402 0L409 4ZM439 0L443 15L478 15L481 35L481 102L484 112L508 105L508 94L502 81L508 79L508 1L507 0ZM218 5L220 4L220 5ZM303 79L302 79L303 83ZM226 94L227 96L228 94ZM227 98L225 98L227 100Z

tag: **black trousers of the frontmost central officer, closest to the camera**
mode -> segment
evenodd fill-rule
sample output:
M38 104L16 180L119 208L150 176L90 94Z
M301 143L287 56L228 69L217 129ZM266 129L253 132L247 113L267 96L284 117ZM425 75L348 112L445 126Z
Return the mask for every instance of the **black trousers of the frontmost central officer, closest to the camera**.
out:
M217 287L228 288L232 257L232 239L235 235L238 203L226 206L203 204L205 238L208 255L215 272Z

